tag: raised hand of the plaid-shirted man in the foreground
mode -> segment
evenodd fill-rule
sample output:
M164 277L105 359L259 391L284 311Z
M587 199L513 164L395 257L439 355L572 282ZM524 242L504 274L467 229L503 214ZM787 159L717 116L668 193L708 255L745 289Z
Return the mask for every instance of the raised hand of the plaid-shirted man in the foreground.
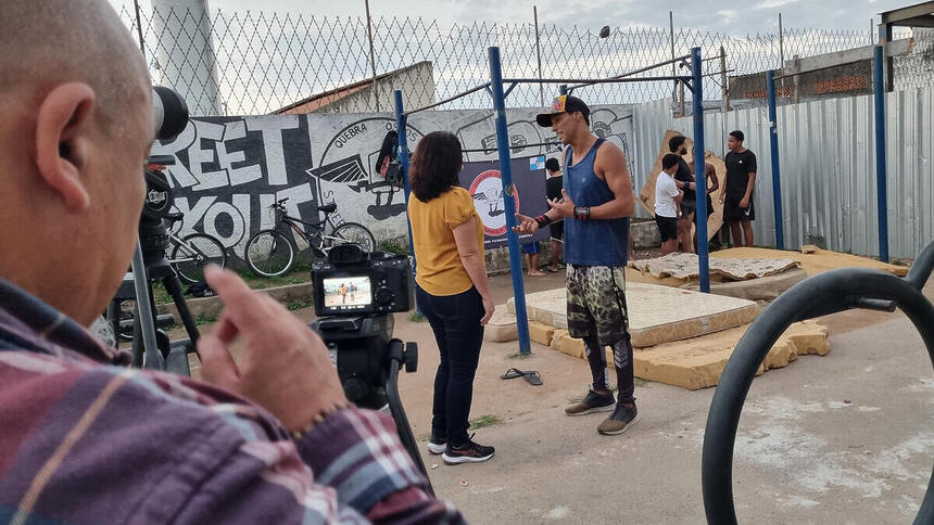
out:
M236 273L210 266L204 277L224 302L214 331L198 342L204 381L265 408L289 431L346 402L317 334L268 295L250 290ZM241 335L244 349L234 362L230 346Z

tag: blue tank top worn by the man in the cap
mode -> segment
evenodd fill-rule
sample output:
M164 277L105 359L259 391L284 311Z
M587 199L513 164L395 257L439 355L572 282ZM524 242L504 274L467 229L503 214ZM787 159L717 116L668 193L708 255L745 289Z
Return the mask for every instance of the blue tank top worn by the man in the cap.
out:
M565 190L575 206L599 206L615 199L606 181L593 169L597 139L581 162L571 165L573 151L565 157ZM580 266L626 266L629 254L629 217L619 219L565 219L565 261Z

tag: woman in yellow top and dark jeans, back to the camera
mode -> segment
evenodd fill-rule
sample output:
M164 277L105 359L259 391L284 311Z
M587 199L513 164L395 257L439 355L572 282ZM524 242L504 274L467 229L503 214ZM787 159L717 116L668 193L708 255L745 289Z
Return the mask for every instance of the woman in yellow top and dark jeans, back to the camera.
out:
M457 137L436 131L418 141L409 170L416 295L441 353L428 450L447 464L487 461L494 452L467 435L474 375L493 299L483 262L483 223L470 193L457 181L462 165Z

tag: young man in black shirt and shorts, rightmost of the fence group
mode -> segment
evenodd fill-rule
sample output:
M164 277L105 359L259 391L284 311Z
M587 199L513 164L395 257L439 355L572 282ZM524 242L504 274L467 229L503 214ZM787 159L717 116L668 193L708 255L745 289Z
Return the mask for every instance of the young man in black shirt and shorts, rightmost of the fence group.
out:
M756 188L756 155L743 146L742 131L730 131L727 139L727 184L720 191L723 204L723 220L730 225L734 246L753 245L753 225L756 208L753 206L753 190ZM742 234L740 232L742 227ZM745 243L743 242L745 235Z

